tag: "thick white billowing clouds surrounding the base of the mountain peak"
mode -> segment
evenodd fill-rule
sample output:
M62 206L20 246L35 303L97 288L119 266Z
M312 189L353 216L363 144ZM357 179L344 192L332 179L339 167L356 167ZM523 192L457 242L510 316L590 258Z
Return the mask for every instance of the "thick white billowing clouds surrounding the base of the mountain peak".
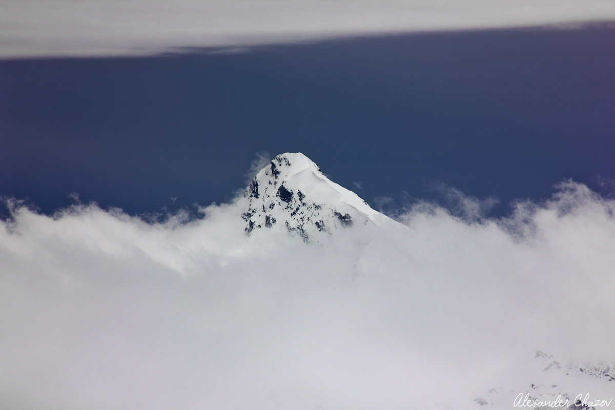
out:
M1 407L467 408L536 350L615 360L615 201L465 203L306 245L244 235L240 200L164 223L12 202Z

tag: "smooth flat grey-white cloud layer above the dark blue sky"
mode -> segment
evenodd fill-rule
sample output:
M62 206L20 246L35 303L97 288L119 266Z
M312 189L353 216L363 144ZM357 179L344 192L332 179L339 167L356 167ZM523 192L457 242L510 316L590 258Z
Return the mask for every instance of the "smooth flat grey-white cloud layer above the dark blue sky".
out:
M615 20L610 0L2 0L0 58L148 55L339 36Z

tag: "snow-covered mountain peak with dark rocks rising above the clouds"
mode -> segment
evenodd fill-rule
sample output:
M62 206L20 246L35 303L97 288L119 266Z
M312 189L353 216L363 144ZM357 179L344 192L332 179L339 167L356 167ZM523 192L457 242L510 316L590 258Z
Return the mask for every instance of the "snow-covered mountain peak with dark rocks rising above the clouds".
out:
M247 234L282 229L310 242L357 224L378 225L386 218L354 192L330 181L301 153L274 157L252 179L244 197Z

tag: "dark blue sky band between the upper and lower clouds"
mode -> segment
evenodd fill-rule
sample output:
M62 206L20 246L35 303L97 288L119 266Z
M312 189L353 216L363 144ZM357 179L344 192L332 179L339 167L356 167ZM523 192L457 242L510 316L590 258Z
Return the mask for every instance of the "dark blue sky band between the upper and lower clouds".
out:
M304 152L368 202L442 182L506 213L566 178L613 191L613 27L194 51L0 61L0 195L47 213L70 192L129 213L205 205L262 151Z

